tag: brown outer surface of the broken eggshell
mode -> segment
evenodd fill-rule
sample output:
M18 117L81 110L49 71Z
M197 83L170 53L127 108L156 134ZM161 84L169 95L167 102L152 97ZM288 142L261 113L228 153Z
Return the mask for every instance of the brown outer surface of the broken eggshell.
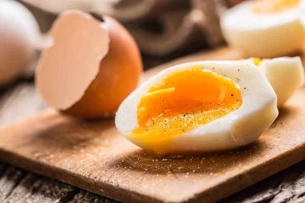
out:
M90 118L114 114L138 85L142 61L134 39L115 19L105 16L104 22L110 35L108 54L82 99L66 111L70 114Z

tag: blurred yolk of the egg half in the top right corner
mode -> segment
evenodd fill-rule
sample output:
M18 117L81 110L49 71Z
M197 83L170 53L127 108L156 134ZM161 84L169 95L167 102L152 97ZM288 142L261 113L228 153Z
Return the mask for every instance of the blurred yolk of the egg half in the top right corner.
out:
M292 9L300 0L257 0L253 3L253 11L257 13L274 13Z

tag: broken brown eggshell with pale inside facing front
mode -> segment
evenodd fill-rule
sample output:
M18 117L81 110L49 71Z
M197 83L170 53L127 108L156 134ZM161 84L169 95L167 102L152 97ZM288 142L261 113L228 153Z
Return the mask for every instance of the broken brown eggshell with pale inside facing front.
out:
M36 72L37 89L50 106L78 117L104 117L137 87L142 73L138 47L115 19L103 19L70 10L52 25L52 45L43 51Z

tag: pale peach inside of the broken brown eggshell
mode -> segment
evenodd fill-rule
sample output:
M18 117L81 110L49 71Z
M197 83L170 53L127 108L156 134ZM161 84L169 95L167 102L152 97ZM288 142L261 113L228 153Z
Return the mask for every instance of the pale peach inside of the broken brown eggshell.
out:
M36 86L52 107L67 110L96 78L108 53L109 35L103 23L80 11L58 16L48 36L53 44L38 61Z

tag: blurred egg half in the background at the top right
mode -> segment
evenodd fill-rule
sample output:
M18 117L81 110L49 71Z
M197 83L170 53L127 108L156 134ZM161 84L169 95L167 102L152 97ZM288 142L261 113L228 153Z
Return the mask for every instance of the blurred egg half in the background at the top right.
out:
M299 0L243 2L222 16L223 35L246 57L271 58L296 52L304 40L298 3Z

